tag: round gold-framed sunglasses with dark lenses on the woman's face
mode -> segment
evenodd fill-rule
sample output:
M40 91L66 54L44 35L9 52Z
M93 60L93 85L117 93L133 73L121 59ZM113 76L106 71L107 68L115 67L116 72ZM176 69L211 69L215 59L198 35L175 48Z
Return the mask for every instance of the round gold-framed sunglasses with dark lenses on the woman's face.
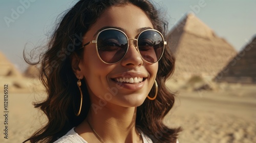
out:
M96 43L98 58L105 64L115 64L121 61L129 48L129 40L135 40L136 50L141 58L148 63L158 62L164 52L163 35L157 30L144 30L138 34L137 39L129 39L126 34L116 28L106 28L100 31L96 40L84 44L85 46Z

